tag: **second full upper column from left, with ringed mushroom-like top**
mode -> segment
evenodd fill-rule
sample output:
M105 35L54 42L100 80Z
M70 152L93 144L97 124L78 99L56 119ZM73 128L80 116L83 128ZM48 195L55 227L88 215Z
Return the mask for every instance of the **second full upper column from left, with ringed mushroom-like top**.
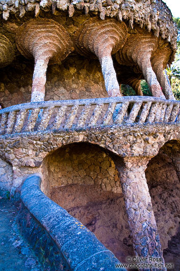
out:
M98 18L85 21L74 35L76 51L86 57L94 54L99 59L109 97L121 96L111 55L122 48L126 38L127 27L123 22Z

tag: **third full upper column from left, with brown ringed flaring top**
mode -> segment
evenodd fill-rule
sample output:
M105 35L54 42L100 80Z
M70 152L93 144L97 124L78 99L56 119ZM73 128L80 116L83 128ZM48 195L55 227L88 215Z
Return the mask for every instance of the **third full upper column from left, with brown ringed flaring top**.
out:
M121 65L138 65L152 95L165 99L150 61L152 53L158 48L159 40L152 33L143 31L137 28L136 32L127 38L123 48L116 54L116 59Z

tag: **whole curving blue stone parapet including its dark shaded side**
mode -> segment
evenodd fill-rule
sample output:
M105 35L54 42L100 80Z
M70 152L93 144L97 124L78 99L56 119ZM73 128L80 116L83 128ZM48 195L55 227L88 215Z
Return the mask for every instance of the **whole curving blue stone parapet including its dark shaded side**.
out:
M117 270L120 262L77 219L40 190L41 177L29 176L21 188L19 227L45 270ZM118 270L126 270L118 268Z

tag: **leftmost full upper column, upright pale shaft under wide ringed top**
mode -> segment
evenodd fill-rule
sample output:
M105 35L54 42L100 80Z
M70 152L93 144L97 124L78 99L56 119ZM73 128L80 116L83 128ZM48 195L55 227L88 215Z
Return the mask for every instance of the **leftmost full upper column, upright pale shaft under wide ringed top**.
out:
M19 27L16 44L24 57L35 60L31 101L43 101L47 65L60 63L71 52L69 34L54 20L31 19Z

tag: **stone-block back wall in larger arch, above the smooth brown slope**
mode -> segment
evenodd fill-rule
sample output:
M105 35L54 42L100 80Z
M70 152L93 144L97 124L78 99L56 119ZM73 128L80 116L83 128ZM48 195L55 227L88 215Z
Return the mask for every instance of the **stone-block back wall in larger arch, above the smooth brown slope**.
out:
M100 185L102 191L121 193L113 160L98 146L71 144L49 154L43 165L49 190L71 185ZM42 170L42 172L43 172Z

